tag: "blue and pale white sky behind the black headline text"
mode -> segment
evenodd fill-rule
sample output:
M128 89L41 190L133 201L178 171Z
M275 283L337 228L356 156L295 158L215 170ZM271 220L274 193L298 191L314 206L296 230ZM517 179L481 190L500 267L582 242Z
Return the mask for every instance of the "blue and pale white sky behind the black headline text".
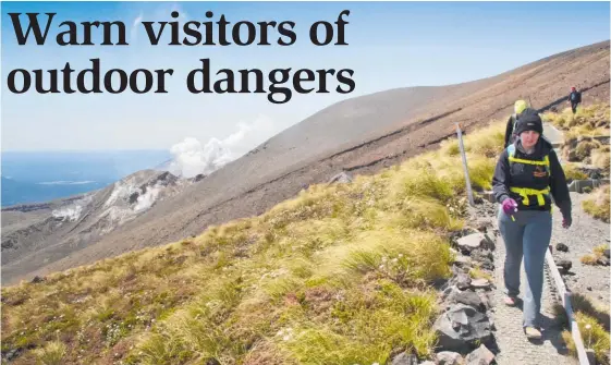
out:
M293 21L297 41L289 47L151 46L142 21L211 21L224 14L237 21ZM308 27L334 22L342 10L349 46L316 47ZM9 12L56 12L45 46L19 46ZM272 134L337 101L394 87L467 82L521 66L572 48L609 39L608 2L3 2L2 150L168 149L185 137L201 143L227 138L246 123L253 147ZM24 16L22 15L22 20ZM122 21L130 46L54 44L62 21ZM134 29L134 32L133 32ZM271 39L278 36L271 34ZM169 94L120 95L12 94L7 77L14 69L81 71L90 58L101 69L174 69ZM352 94L294 93L290 102L272 105L265 94L191 94L188 71L209 58L216 71L257 68L352 69ZM332 77L329 89L337 81ZM74 85L74 84L73 84ZM265 123L260 123L264 120ZM261 127L258 127L258 126ZM248 146L246 146L248 145Z

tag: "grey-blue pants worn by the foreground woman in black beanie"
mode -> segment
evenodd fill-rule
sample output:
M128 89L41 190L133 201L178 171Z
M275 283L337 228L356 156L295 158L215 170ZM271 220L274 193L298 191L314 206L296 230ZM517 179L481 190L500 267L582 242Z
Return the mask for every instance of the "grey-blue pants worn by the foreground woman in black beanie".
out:
M526 271L523 326L538 327L543 289L543 265L551 239L551 212L518 210L511 216L499 209L499 230L505 243L503 270L505 294L520 294L520 270L522 257Z

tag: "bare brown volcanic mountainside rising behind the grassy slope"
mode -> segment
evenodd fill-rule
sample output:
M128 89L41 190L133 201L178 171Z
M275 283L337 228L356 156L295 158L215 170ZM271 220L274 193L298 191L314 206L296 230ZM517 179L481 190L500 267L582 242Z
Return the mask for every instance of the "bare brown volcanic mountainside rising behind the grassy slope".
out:
M124 210L108 212L106 220L99 217L121 183L83 197L90 202L73 220L76 212L65 207L63 218L58 218L59 206L3 209L2 280L29 279L260 215L342 170L372 173L436 148L454 134L455 122L468 133L491 119L504 120L517 98L529 99L541 110L562 109L575 85L583 90L585 105L607 101L609 46L604 41L574 49L471 83L391 89L335 104L205 179L183 184L166 174L162 198L120 226L108 218L117 219ZM159 172L150 173L136 185L159 182ZM140 196L145 192L138 194L132 199L131 194L121 195L123 203L118 207L137 210L138 202L148 202ZM93 214L87 216L87 211Z

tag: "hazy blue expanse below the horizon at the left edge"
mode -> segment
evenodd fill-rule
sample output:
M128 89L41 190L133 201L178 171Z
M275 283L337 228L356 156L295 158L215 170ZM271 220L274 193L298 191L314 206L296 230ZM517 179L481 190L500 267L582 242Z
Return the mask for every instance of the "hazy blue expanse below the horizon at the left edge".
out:
M102 188L172 158L168 150L2 151L2 207Z

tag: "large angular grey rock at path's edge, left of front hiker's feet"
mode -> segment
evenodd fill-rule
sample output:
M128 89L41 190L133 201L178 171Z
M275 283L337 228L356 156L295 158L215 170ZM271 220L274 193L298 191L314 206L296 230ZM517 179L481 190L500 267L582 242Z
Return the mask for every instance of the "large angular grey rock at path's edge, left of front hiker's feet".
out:
M435 323L438 345L442 351L461 351L492 339L488 317L474 307L455 304Z

